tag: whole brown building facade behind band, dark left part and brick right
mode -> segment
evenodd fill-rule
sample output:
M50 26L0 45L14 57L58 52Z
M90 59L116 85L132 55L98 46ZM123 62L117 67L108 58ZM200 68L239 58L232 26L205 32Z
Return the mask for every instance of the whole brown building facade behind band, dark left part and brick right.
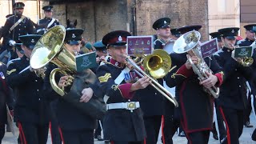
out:
M171 18L171 27L202 25L202 41L208 39L207 0L84 0L54 5L54 16L62 24L66 19L78 20L85 29L84 37L94 42L112 30L128 30L134 35L155 34L152 24L162 17Z

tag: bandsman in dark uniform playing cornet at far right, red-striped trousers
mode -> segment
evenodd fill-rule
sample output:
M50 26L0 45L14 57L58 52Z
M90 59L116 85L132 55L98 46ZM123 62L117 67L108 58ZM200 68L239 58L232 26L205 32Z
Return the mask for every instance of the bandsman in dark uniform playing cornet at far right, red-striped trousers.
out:
M214 54L219 66L225 71L219 96L219 106L226 124L227 139L222 143L238 144L243 129L243 112L246 107L246 79L255 84L255 76L249 66L242 66L231 57L238 35L238 27L218 30L224 47Z

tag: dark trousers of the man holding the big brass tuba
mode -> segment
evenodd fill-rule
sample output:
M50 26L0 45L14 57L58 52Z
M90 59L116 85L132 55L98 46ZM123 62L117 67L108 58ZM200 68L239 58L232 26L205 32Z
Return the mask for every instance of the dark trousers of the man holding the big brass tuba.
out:
M94 144L94 130L62 130L65 144Z

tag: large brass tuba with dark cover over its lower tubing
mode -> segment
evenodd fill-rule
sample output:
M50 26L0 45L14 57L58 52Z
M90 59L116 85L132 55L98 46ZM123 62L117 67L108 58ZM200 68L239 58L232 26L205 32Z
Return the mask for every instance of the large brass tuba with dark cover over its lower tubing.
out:
M49 62L53 62L58 68L50 73L50 85L56 93L58 93L66 102L70 102L73 106L81 110L82 113L92 118L102 118L106 113L106 107L101 98L92 97L89 102L79 102L82 89L89 87L90 84L96 82L97 77L91 70L84 70L84 73L76 72L76 62L74 54L64 46L64 38L66 30L64 26L54 26L43 34L34 46L30 57L30 66L35 69L41 69ZM61 73L71 75L70 90L64 87L58 87L55 82L55 74Z

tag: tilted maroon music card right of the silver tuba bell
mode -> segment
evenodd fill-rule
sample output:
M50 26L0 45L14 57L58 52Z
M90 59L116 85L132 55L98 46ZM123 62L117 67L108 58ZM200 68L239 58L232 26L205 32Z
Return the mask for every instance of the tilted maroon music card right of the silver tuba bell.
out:
M203 42L200 47L201 47L202 58L210 57L212 54L218 51L217 38L214 38L207 42Z

